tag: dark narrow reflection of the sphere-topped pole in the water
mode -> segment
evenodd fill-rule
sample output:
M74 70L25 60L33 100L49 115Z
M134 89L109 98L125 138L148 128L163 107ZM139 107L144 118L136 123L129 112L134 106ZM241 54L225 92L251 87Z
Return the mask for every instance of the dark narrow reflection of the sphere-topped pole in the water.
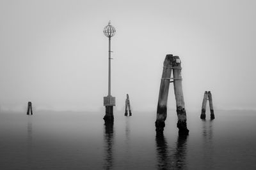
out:
M111 169L113 167L113 124L105 124L104 142L105 142L105 159L104 169Z

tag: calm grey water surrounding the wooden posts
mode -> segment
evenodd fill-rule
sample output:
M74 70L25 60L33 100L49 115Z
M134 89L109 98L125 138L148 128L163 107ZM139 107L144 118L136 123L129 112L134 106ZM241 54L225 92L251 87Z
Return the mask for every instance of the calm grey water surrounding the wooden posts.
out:
M175 111L156 137L156 113L0 113L0 169L256 169L256 112L188 111L180 138Z

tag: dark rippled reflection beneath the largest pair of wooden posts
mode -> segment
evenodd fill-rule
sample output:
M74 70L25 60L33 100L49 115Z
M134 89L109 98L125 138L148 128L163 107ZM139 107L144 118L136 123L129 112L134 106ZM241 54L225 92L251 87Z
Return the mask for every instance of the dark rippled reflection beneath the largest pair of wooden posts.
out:
M168 150L164 134L156 135L158 169L186 169L187 138L178 136L175 150Z

